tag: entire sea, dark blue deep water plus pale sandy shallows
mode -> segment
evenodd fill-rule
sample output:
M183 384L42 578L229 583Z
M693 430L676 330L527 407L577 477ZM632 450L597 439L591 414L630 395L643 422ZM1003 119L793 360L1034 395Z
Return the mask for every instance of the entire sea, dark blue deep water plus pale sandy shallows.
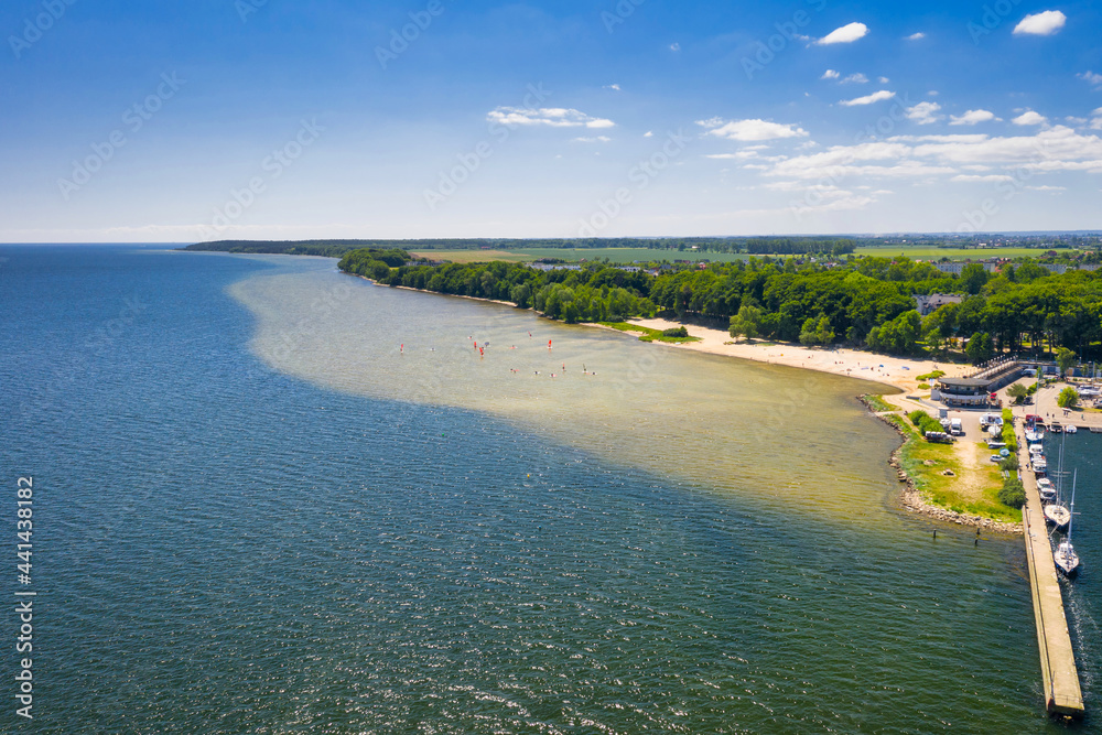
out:
M2 594L37 593L34 732L1058 727L1020 540L898 507L868 383L327 259L0 257ZM18 633L0 618L11 672Z

